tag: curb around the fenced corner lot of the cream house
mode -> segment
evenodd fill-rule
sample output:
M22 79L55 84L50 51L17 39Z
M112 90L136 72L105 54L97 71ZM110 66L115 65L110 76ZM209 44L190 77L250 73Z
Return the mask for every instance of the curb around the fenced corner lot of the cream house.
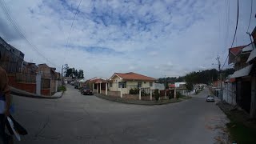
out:
M105 99L105 100L111 101L111 102L119 102L119 103L125 103L125 104L131 104L131 105L143 105L143 106L167 105L170 103L182 102L182 101L186 100L186 99L183 99L183 100L178 99L177 101L174 101L174 102L138 103L138 102L125 102L125 101L120 101L118 99L110 99L110 98L106 98L105 96L101 96L101 95L97 95L97 94L94 94L94 95L98 98L102 98L102 99Z

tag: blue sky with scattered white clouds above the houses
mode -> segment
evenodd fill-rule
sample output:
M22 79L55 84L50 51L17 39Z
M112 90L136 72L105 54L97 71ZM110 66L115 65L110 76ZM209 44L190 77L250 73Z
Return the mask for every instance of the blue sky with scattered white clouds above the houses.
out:
M57 71L68 64L86 78L115 72L162 78L217 69L216 58L225 62L234 37L234 0L82 0L74 18L79 2L0 0L0 36L27 62ZM250 43L250 2L239 1L234 46ZM254 1L249 32L256 26L255 8Z

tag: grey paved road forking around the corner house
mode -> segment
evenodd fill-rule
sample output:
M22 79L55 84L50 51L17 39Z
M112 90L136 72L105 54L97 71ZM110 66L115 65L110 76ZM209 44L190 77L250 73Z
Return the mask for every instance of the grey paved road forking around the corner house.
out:
M84 96L72 86L59 99L14 96L14 118L29 134L22 144L213 144L225 122L208 90L184 102L138 106Z

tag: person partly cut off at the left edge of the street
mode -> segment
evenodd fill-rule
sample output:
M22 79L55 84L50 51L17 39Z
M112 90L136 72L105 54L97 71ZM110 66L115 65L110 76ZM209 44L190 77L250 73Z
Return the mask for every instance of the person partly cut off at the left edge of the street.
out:
M10 87L6 70L0 66L0 142L2 141L3 144L9 144L11 139L10 135L5 133L6 118L10 115L10 101Z

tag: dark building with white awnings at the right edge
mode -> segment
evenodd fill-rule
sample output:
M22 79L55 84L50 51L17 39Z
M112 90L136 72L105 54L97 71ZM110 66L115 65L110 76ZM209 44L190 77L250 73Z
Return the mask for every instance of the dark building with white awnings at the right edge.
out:
M246 46L230 48L229 64L233 63L236 71L224 83L222 98L256 118L256 26L250 37L254 42L251 40Z

